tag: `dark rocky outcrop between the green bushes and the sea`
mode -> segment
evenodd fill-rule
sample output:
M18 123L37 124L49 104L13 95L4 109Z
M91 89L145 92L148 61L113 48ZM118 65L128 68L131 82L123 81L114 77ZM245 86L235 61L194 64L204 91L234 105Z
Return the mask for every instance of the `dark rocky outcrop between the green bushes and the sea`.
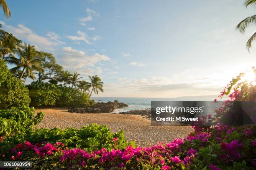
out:
M113 112L115 109L120 107L128 107L123 102L118 102L115 100L114 102L97 102L92 107L85 107L85 108L71 108L68 112L76 112L76 113L110 113Z

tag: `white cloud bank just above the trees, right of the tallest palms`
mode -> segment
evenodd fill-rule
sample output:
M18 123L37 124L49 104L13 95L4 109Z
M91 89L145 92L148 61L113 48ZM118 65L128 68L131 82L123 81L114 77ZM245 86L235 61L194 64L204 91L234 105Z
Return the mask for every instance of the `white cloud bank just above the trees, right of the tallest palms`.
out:
M110 58L107 55L95 53L87 55L84 51L73 49L72 47L63 47L63 54L59 60L60 64L66 68L82 69L84 67L94 67L95 64L101 61L108 61ZM99 70L99 68L98 68Z

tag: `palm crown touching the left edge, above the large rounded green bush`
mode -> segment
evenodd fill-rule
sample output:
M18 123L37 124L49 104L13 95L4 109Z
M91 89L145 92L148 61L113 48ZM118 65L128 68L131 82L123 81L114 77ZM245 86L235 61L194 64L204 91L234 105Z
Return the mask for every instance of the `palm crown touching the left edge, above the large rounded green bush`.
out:
M3 30L0 30L0 42L0 56L2 60L5 59L6 55L13 54L22 47L21 40Z

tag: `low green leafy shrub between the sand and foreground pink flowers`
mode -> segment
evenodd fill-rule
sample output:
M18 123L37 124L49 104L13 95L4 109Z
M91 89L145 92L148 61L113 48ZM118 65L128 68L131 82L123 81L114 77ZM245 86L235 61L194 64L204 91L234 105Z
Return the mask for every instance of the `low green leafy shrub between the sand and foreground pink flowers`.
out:
M31 143L43 141L50 143L61 142L70 148L83 148L87 151L101 148L110 150L113 148L113 138L118 138L118 144L115 143L115 148L128 146L123 130L118 133L111 133L111 130L106 125L100 126L97 124L84 126L80 129L40 128L24 136L24 140Z

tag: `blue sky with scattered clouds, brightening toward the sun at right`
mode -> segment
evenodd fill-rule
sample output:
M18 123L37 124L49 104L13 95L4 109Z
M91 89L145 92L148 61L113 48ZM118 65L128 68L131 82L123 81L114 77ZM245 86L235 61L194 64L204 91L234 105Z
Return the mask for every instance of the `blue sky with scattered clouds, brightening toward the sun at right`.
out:
M246 48L256 27L236 30L256 13L244 0L6 2L12 16L0 13L2 28L84 80L98 75L98 97L217 96L256 66L256 43Z

